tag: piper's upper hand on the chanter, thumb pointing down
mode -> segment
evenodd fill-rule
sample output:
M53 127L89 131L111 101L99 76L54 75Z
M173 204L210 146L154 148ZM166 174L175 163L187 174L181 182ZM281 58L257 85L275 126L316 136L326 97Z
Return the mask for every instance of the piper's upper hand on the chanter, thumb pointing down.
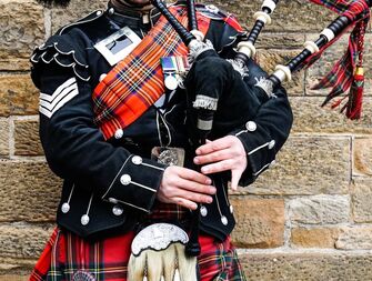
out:
M237 190L239 180L247 168L247 153L242 142L234 136L207 141L197 149L194 163L203 165L201 172L210 174L231 171L231 189Z

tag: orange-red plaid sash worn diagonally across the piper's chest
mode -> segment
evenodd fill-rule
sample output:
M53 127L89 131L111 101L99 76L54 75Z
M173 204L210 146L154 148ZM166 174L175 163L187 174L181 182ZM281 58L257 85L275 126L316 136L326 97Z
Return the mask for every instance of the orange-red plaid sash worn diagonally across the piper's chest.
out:
M185 9L171 7L170 11L183 26L187 24ZM210 20L200 16L198 22L200 31L205 34ZM164 93L160 58L187 54L188 48L168 20L161 17L141 43L93 91L94 122L105 139L134 122Z

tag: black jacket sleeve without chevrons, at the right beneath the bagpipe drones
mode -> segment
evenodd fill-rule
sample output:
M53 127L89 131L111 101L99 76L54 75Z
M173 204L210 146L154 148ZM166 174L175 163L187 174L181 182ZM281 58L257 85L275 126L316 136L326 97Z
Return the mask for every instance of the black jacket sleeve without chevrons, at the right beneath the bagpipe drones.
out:
M252 183L257 177L275 163L275 155L289 137L293 114L286 91L280 87L271 97L259 87L258 81L268 77L253 60L248 64L249 76L244 78L262 101L257 114L247 120L245 126L231 132L243 143L248 155L248 168L240 185Z

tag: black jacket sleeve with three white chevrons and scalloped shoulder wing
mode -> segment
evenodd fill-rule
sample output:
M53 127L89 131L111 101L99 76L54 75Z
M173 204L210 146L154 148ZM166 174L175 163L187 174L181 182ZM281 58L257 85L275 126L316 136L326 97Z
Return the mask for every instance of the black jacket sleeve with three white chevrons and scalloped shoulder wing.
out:
M102 200L117 199L150 211L164 167L113 147L93 123L92 87L77 69L71 38L51 38L31 57L31 77L40 89L40 137L51 170ZM80 59L80 64L88 63ZM143 177L147 174L147 177Z

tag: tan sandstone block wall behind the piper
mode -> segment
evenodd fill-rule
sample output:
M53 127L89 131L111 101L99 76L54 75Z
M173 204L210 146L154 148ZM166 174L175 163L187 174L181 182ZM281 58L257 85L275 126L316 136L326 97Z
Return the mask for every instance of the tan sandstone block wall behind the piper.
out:
M54 221L61 181L38 138L38 90L28 57L62 23L104 1L72 1L67 11L31 0L0 0L0 280L27 280ZM210 1L250 27L261 0ZM258 43L268 71L302 49L330 19L306 0L283 0ZM372 34L366 34L364 113L349 121L320 108L310 87L343 53L346 37L288 86L292 134L278 165L231 194L233 240L249 280L372 280Z

